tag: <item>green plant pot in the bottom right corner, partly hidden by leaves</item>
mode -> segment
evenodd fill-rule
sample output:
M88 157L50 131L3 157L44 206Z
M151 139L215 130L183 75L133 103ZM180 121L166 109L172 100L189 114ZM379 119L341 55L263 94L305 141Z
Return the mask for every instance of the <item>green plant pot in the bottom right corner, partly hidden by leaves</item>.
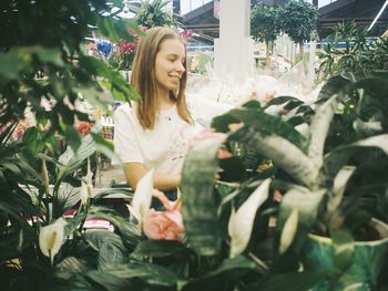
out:
M370 226L379 232L381 239L356 241L353 263L338 278L334 289L329 289L329 281L323 281L317 283L312 289L313 291L372 290L377 285L378 276L387 261L388 226L377 219L372 219ZM305 268L308 270L334 270L334 246L331 239L309 235L303 251L303 260Z

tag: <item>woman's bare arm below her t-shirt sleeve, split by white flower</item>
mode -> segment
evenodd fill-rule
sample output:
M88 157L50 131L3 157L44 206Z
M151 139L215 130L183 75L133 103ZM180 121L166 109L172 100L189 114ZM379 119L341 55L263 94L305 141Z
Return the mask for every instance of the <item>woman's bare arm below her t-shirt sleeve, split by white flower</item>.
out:
M124 175L127 184L132 189L136 189L139 180L146 174L146 168L141 163L126 163L124 164ZM155 173L154 175L154 188L159 190L176 189L181 184L180 175L169 175Z

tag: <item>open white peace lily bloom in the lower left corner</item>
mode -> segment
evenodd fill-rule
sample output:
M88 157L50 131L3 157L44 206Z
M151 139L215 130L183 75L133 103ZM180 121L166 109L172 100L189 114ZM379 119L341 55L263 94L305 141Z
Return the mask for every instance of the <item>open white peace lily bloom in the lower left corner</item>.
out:
M43 227L39 233L39 247L45 257L49 257L53 263L55 254L62 247L63 232L67 221L63 218L55 220L55 222Z

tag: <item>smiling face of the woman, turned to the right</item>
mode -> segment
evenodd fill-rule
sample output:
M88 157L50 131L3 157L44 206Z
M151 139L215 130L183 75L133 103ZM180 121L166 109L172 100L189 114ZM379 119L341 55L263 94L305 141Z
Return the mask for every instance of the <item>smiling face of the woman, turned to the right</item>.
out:
M155 79L161 90L178 90L185 59L185 46L180 40L167 39L161 43L155 60Z

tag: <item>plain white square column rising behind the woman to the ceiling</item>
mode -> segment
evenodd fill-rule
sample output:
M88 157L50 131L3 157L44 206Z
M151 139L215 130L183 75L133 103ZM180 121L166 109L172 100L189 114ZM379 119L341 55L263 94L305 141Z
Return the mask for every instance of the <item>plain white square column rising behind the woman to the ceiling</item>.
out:
M244 76L254 69L254 41L249 38L251 1L219 1L219 39L214 40L214 71Z

